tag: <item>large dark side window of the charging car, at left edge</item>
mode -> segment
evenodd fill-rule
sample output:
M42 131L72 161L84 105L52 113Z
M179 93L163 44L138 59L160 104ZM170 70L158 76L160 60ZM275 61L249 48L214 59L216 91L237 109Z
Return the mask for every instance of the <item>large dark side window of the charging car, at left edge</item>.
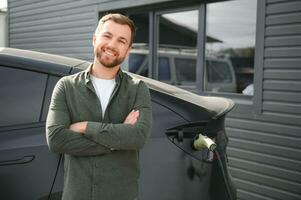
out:
M0 66L0 126L38 122L46 81L43 73Z

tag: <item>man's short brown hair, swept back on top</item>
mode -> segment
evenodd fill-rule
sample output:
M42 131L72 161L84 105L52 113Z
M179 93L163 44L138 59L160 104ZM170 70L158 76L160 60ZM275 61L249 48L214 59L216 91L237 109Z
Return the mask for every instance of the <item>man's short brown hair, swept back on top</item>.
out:
M131 35L131 41L130 41L130 46L132 46L132 43L134 41L135 37L135 32L136 32L136 27L134 22L127 16L119 14L119 13L109 13L104 15L98 22L98 25L95 30L95 35L99 33L101 26L106 22L112 20L117 24L121 25L128 25L131 29L132 35Z

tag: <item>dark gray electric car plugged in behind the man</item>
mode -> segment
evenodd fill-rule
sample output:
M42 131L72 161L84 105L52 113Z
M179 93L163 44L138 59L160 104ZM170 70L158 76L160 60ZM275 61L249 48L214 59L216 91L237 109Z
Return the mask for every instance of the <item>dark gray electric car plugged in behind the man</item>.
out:
M60 199L63 156L47 147L48 106L56 82L89 64L0 49L0 199ZM131 75L147 83L153 108L151 136L140 153L139 199L236 199L227 170L224 129L233 102ZM200 133L214 141L216 149L196 149L193 144Z

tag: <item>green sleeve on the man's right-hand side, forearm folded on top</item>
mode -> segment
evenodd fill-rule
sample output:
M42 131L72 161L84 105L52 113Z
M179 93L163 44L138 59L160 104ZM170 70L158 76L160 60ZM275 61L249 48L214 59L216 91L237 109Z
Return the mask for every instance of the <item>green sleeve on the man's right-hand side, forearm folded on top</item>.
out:
M134 109L139 110L139 117L134 125L89 121L84 135L113 150L141 149L150 133L152 112L150 93L145 83L140 82L137 90Z

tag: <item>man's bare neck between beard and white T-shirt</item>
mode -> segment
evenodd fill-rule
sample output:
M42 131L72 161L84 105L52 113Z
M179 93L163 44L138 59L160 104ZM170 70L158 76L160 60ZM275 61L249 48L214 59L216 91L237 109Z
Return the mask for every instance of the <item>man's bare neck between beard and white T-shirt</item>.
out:
M94 60L93 66L91 68L91 74L101 79L114 79L118 73L120 66L115 66L113 68L107 68L101 63Z

